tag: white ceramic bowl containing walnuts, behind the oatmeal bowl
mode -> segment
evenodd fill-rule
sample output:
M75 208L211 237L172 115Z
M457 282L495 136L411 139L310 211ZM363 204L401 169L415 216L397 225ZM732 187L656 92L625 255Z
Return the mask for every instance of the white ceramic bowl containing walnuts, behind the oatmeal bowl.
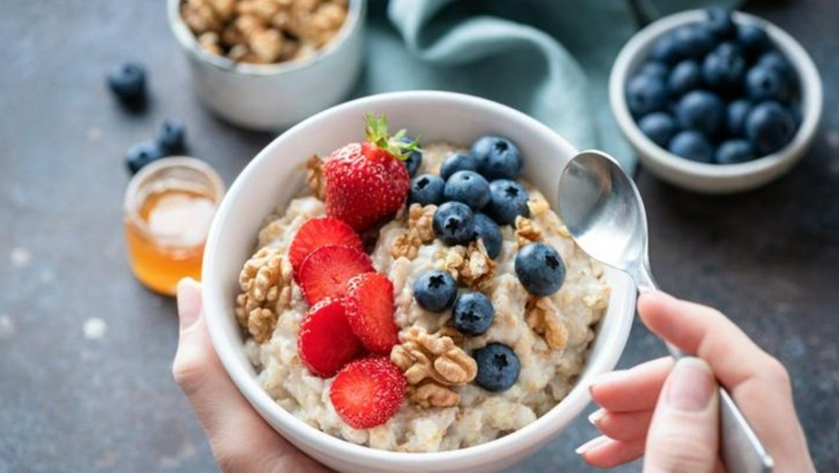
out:
M237 64L206 52L168 0L169 28L184 49L192 83L216 116L253 130L277 131L347 97L363 64L367 0L350 0L336 37L310 57L279 64Z

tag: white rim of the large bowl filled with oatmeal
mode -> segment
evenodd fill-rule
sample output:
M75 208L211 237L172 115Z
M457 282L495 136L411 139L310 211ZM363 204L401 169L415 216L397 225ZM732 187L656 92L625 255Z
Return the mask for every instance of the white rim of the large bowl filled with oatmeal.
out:
M285 134L290 134L299 128L309 126L310 122L320 120L320 117L323 115L341 113L341 111L354 108L359 105L364 105L364 108L366 109L374 109L381 103L387 103L393 100L457 100L461 102L468 102L472 106L479 106L488 111L492 111L492 113L498 114L499 116L503 116L503 121L528 122L529 126L533 126L538 129L540 133L545 133L545 135L550 136L550 141L553 141L556 147L567 147L570 148L571 151L576 152L576 148L572 147L568 141L565 141L565 138L559 136L555 131L551 130L548 126L545 126L541 122L536 121L534 118L527 116L520 111L516 111L507 105L501 105L493 102L492 100L486 100L472 95L437 90L411 90L370 95L357 100L345 102L341 105L336 105L326 111L321 111L315 116L307 118L305 121L301 121L298 125L295 125L290 128L289 131L285 131L283 135L274 139L274 141L269 143L267 147L263 148L263 150L258 153L257 157L248 163L248 166L242 170L242 173L233 182L231 188L225 196L225 199L221 201L221 205L216 211L216 217L213 220L210 234L207 238L204 254L204 268L202 270L206 283L204 287L206 288L211 285L216 285L216 281L213 278L215 273L210 270L208 262L215 260L217 250L215 241L219 239L219 235L223 230L219 222L226 219L227 213L232 212L230 203L232 201L228 198L228 196L237 195L239 188L244 185L246 180L248 180L248 175L258 172L258 162L263 159L267 159L268 155L274 153L275 148L281 146L282 138ZM636 296L637 295L634 290L630 290L626 293L624 297L626 298L629 306L634 307ZM588 382L598 374L605 373L608 370L613 369L618 364L618 359L623 354L623 349L626 347L626 343L628 342L629 332L632 327L634 316L634 311L631 311L627 315L623 315L625 318L623 321L616 322L618 323L618 326L612 332L612 337L602 341L607 343L609 347L612 347L613 351L606 352L602 357L599 357L596 360L587 360L585 365L585 368L587 368L586 376L577 379L574 387L571 388L571 392L568 393L565 398L562 398L562 400L560 400L560 402L551 408L547 413L534 420L534 422L524 426L524 428L516 430L515 432L507 434L496 440L490 440L480 445L473 445L458 450L446 450L440 452L398 452L373 449L372 447L352 444L347 440L333 437L320 429L316 429L310 424L306 424L304 421L294 417L294 414L291 414L280 407L279 404L268 396L268 393L259 386L256 379L253 378L251 373L249 373L248 367L236 361L237 357L241 354L242 348L237 347L235 343L233 343L232 340L229 340L225 335L225 329L224 326L222 326L220 317L232 316L232 309L224 306L221 299L223 299L221 296L216 298L215 296L206 294L204 297L206 305L205 313L207 315L206 321L210 331L211 341L213 343L213 347L215 347L216 352L218 353L219 359L227 371L227 374L230 376L233 383L237 385L237 388L239 388L240 391L249 393L249 395L246 395L245 398L248 398L248 402L251 403L258 412L269 413L271 417L277 419L281 424L284 424L284 429L294 431L294 434L305 438L307 443L316 443L322 447L328 448L334 457L340 458L341 455L352 455L354 458L361 461L388 461L391 462L391 465L397 464L406 467L423 466L426 468L465 465L470 460L480 457L481 455L486 455L491 451L499 449L511 452L526 450L529 446L538 444L542 440L546 441L547 439L550 439L550 437L555 434L556 424L559 424L568 415L565 414L566 412L581 412L586 408L586 405L591 400L587 389ZM216 305L217 300L221 306ZM217 314L219 317L212 316L211 314ZM620 317L621 314L616 316ZM571 423L571 421L579 415L579 412L573 414L567 422Z

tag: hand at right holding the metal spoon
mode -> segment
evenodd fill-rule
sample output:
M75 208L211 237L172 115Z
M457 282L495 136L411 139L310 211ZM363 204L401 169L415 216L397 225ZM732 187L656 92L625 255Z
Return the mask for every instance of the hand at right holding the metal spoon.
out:
M645 472L723 471L718 460L722 383L774 458L774 471L815 472L795 414L789 374L719 311L663 292L638 299L650 331L686 353L602 375L591 396L602 409L591 423L602 436L577 453L612 468L644 455Z

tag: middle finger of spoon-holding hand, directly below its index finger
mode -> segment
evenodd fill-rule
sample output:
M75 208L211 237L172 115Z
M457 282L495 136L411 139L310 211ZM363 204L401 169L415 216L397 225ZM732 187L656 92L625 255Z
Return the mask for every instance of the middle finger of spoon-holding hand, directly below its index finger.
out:
M653 409L674 363L673 358L663 357L628 370L603 374L591 383L591 397L610 412Z

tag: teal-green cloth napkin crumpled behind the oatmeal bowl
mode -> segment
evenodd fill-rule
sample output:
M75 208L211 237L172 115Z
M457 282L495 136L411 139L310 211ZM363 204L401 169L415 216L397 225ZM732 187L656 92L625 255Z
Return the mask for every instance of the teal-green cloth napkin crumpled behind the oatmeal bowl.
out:
M370 0L356 95L453 90L510 105L579 149L635 157L609 110L612 61L644 23L737 0ZM503 130L499 130L503 133Z

